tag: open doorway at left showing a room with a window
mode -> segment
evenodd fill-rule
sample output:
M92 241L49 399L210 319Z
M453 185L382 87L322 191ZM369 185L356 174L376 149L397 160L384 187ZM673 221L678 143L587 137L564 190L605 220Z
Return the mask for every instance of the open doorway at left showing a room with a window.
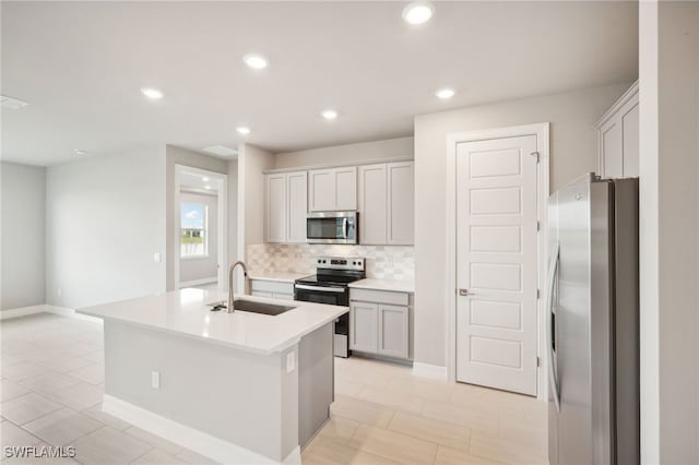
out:
M175 166L175 287L225 288L227 177Z

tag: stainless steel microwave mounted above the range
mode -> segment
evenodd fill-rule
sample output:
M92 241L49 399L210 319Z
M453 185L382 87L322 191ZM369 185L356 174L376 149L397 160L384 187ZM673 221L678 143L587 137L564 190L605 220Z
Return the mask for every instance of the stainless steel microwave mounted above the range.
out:
M309 213L306 240L308 243L357 243L358 227L357 212Z

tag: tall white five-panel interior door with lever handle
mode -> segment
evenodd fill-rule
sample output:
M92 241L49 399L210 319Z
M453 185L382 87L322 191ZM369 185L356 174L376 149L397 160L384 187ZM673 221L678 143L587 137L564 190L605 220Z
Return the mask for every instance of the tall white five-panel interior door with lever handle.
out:
M457 379L536 395L536 136L457 150Z

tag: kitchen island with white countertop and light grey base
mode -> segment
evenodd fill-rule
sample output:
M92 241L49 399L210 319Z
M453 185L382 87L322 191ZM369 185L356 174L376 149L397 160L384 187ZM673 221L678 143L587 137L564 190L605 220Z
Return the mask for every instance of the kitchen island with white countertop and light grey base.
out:
M348 309L239 298L294 309L213 312L227 294L190 288L78 310L104 320L103 409L217 462L300 463L329 418Z

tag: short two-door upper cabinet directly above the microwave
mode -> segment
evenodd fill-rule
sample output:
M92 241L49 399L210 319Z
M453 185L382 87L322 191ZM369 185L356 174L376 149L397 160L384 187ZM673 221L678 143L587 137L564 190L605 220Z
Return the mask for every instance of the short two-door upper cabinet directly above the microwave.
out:
M357 168L308 171L308 193L310 212L357 210Z

